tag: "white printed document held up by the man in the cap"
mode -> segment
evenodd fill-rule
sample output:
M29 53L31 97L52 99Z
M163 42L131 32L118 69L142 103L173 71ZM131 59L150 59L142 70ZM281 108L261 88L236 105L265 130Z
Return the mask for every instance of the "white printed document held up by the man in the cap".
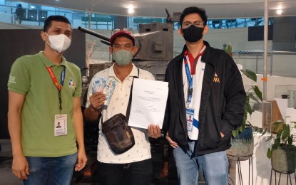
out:
M134 78L128 125L148 129L153 124L161 129L167 99L167 82Z

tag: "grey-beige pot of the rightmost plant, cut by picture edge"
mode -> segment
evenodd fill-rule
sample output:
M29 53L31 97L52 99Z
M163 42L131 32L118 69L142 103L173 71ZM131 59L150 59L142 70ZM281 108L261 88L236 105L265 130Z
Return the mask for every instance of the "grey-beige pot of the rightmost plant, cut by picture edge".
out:
M294 173L296 167L296 147L280 146L274 149L271 155L271 166L273 170L281 173Z

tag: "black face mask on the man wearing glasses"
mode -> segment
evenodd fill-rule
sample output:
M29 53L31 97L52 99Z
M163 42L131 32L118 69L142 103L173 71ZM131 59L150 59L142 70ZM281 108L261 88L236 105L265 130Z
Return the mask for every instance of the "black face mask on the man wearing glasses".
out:
M190 43L195 43L203 37L203 28L198 28L194 25L182 29L182 32L185 41L188 41Z

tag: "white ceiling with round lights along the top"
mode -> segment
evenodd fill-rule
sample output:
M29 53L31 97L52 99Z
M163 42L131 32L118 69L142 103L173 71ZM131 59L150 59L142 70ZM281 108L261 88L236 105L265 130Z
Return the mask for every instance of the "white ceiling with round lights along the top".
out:
M56 6L79 11L112 14L120 16L166 17L165 8L170 15L181 12L188 6L205 9L208 18L263 17L265 0L28 0L32 4ZM128 14L128 6L134 7L134 14ZM269 16L296 16L296 0L269 0Z

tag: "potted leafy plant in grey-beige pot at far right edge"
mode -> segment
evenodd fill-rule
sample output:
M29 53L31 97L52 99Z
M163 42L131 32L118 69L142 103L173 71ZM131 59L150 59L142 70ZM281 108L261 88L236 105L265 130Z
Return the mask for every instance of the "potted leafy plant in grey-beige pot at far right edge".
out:
M296 167L296 147L293 144L296 141L296 133L292 132L296 128L296 122L290 121L289 118L285 117L285 120L272 122L277 134L272 134L266 140L274 139L272 147L267 151L272 169L287 174L294 173Z

